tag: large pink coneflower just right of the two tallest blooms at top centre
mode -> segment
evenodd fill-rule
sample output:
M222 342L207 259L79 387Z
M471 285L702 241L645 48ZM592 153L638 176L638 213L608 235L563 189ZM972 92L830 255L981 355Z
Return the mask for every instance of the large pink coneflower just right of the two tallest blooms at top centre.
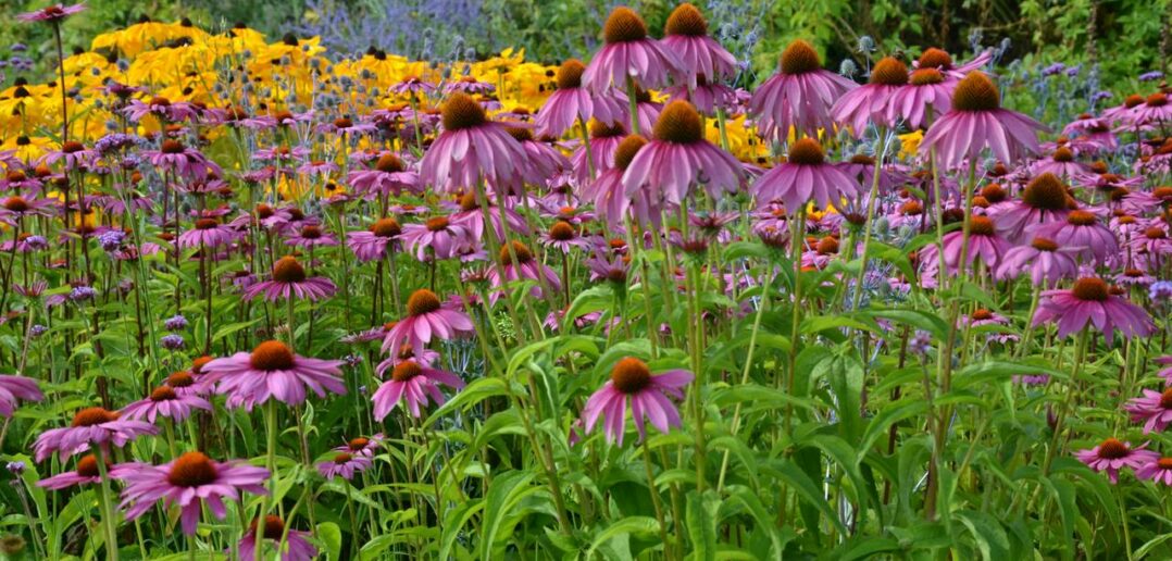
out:
M818 129L832 130L830 108L856 83L822 68L818 52L800 39L782 53L781 71L752 94L749 112L765 137L784 141L790 128L817 137Z

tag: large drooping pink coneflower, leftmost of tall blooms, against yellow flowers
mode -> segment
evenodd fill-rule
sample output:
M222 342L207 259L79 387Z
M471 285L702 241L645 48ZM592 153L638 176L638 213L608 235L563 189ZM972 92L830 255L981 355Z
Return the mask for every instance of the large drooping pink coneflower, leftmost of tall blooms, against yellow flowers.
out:
M476 101L452 94L443 104L443 131L420 162L420 179L441 193L475 189L520 189L532 179L527 156L503 123L489 121ZM533 182L536 183L536 182Z

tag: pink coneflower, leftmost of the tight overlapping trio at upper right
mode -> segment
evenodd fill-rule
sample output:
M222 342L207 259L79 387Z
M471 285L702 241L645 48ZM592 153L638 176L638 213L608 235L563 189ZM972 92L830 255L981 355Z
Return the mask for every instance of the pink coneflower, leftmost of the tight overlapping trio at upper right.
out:
M834 102L830 109L834 121L847 125L856 138L861 138L867 123L893 126L895 93L907 84L907 66L893 56L885 56L871 69L870 81L854 88Z

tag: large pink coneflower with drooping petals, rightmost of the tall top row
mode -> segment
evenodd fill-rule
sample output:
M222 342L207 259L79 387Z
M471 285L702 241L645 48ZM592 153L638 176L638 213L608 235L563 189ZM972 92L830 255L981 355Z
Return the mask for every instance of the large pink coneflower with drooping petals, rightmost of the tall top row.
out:
M983 73L974 71L953 91L952 110L932 124L920 141L920 153L936 150L940 165L959 167L977 162L984 149L1013 164L1027 152L1037 152L1037 131L1045 126L1020 112L1001 108L997 85Z

